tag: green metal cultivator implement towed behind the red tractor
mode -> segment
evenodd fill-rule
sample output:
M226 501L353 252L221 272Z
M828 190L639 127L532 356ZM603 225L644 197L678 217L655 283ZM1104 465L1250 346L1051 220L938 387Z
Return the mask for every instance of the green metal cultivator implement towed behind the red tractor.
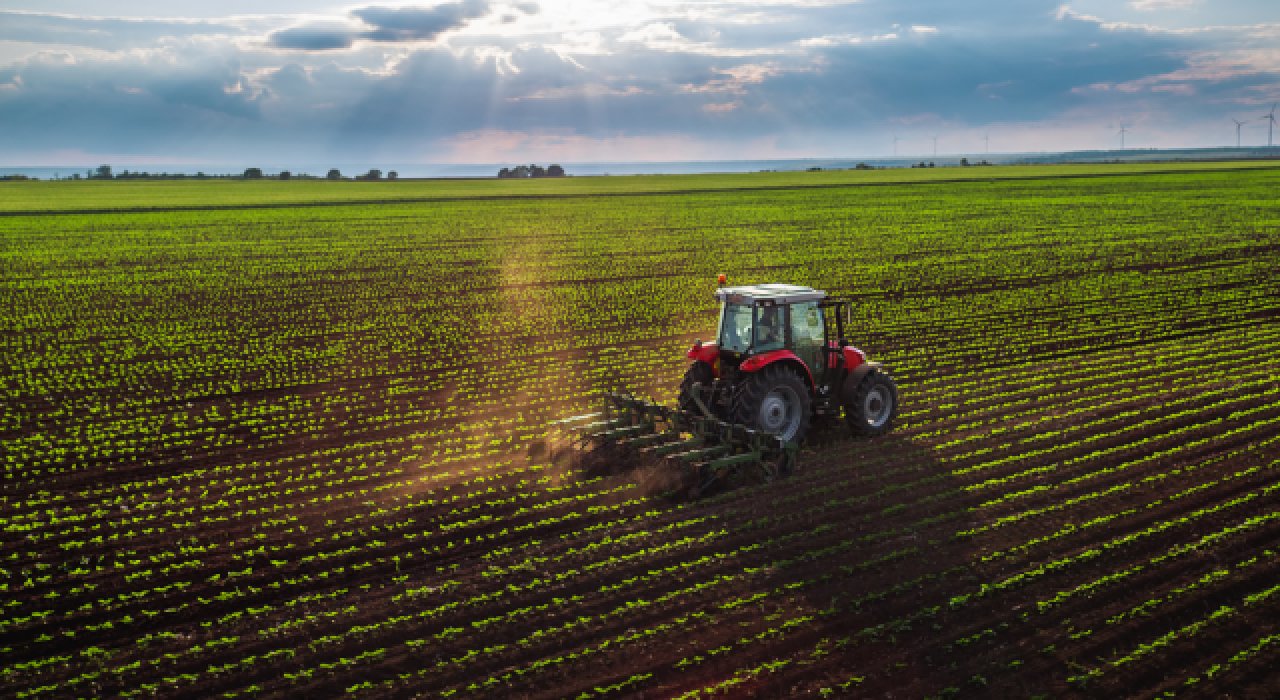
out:
M758 468L772 481L795 467L797 443L714 417L703 403L703 393L701 385L694 384L691 398L700 412L691 412L608 392L603 411L557 424L576 447L612 445L678 466L684 476L695 480L695 495L742 470Z

